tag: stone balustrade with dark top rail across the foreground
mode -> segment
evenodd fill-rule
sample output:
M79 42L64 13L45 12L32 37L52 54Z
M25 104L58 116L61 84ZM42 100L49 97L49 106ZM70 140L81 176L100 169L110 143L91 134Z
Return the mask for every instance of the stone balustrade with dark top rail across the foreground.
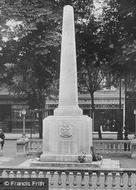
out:
M49 178L49 190L136 189L136 169L0 168L3 178Z

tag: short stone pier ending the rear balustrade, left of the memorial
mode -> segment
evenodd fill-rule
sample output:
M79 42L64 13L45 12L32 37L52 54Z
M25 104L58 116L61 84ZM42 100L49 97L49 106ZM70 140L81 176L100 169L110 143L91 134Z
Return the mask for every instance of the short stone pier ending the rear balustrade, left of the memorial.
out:
M20 138L17 140L17 155L19 156L25 156L28 153L28 138Z

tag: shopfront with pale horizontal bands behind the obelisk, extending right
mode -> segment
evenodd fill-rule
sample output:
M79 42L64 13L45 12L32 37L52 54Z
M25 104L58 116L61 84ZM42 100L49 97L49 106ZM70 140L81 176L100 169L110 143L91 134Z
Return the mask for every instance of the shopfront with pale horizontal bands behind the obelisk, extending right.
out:
M121 102L120 102L121 101ZM125 126L125 95L122 91L121 98L118 90L100 90L94 93L95 113L94 129L98 131L100 125L105 131L117 131L115 122ZM121 110L119 104L121 103ZM53 115L53 110L58 106L58 99L48 100L46 108L48 115ZM79 94L79 106L83 114L90 116L91 98L89 94ZM121 112L121 115L119 114Z

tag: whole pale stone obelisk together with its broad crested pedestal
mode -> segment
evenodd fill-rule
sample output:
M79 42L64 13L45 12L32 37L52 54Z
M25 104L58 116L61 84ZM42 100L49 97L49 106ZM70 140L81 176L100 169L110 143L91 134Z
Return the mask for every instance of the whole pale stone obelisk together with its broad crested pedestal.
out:
M86 154L92 160L92 121L78 106L77 64L74 11L67 5L63 11L59 105L54 115L43 121L44 162L76 162Z

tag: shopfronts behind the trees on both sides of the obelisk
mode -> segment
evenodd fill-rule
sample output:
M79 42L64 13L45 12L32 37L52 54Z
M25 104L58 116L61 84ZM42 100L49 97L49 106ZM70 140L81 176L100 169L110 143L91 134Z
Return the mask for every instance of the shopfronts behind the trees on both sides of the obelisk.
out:
M118 90L100 90L94 94L95 113L94 129L98 131L102 125L104 131L116 131L114 122L120 121L125 126L125 95L122 90L121 99ZM121 101L121 102L120 102ZM119 104L121 103L121 110ZM58 99L48 99L46 101L46 116L53 115L54 109L58 106ZM89 94L79 94L79 106L83 109L83 114L90 116L91 98ZM9 94L8 91L1 91L0 94L0 128L5 132L22 131L23 109L28 110L27 100ZM121 111L121 116L120 116ZM134 116L133 116L134 117ZM134 118L133 118L134 119ZM35 128L35 117L29 112L26 113L26 131ZM37 126L38 128L38 126Z

